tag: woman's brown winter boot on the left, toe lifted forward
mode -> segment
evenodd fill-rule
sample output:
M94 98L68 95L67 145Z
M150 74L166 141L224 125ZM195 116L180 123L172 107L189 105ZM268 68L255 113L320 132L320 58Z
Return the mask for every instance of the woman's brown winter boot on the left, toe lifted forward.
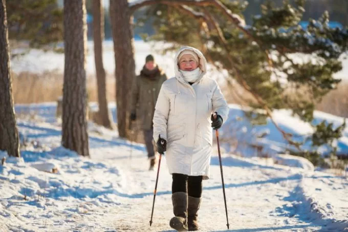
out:
M170 227L178 231L187 231L187 193L173 193L171 200L175 217L170 219Z

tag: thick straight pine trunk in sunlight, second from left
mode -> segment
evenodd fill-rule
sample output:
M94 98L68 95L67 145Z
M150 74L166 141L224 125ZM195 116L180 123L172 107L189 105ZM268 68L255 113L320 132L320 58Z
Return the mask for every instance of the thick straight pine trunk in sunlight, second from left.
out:
M64 84L62 145L89 156L86 119L85 0L64 0Z

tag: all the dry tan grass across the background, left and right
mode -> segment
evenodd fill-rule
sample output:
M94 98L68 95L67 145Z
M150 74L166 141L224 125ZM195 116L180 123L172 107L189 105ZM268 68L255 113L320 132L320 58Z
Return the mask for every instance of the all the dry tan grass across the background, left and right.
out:
M106 96L109 101L115 101L115 78L108 74L106 84ZM22 72L12 74L12 91L14 103L39 103L56 101L62 96L63 74L45 72L33 74ZM229 103L246 106L248 101L254 101L253 97L241 88L237 83L233 86L222 86ZM97 101L97 85L95 76L88 76L87 91L90 101ZM316 106L316 110L333 115L348 117L348 81L341 82L337 90L331 91Z

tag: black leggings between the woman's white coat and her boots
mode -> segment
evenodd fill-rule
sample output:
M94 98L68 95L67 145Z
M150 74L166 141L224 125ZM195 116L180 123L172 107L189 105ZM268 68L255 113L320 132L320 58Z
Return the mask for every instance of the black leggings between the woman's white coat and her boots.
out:
M173 173L173 182L171 192L184 192L190 197L202 196L202 180L203 176L187 176L184 174Z

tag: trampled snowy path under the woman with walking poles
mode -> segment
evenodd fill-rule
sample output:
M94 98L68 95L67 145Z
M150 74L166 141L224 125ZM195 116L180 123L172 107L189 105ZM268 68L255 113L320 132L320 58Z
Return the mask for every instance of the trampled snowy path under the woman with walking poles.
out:
M139 158L138 158L139 157ZM171 176L165 160L161 165L158 193L155 203L154 224L148 225L156 172L148 172L143 155L122 161L120 172L126 179L120 212L115 217L118 231L172 231L168 221L172 217ZM226 195L229 214L229 231L317 231L318 225L302 220L301 208L290 209L284 197L296 195L301 175L279 168L263 167L248 163L232 163L224 166ZM237 161L237 160L234 160ZM202 231L226 231L226 216L221 188L219 161L212 159L211 179L204 181L203 201L200 209ZM139 212L139 213L135 213ZM297 215L297 217L294 217ZM121 216L121 217L120 217Z

